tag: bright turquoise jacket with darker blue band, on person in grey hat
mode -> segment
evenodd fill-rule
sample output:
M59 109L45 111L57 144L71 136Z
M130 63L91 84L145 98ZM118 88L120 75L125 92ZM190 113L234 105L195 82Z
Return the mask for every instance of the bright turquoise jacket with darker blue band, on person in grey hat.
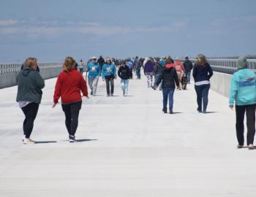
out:
M230 82L229 105L256 104L256 74L249 69L238 69Z

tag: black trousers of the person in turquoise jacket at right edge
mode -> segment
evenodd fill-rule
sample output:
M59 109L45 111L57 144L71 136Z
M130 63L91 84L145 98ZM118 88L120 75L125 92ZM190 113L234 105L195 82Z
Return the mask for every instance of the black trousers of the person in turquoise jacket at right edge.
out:
M247 145L255 139L255 104L236 105L236 136L238 144L244 145L244 113L246 112Z

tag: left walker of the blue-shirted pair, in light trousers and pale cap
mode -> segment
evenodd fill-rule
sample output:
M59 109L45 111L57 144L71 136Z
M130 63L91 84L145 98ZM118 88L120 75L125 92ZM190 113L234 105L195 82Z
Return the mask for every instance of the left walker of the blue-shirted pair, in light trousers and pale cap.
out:
M87 66L88 83L91 89L91 95L95 96L97 91L97 85L99 82L100 66L97 63L97 58L93 57L92 62Z

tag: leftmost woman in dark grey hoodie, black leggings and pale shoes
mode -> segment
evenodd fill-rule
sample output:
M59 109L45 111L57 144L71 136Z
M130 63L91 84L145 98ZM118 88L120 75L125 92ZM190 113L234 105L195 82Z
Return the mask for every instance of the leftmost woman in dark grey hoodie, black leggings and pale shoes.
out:
M23 69L16 77L18 93L16 101L25 115L23 121L23 144L34 144L30 139L34 127L34 120L37 117L39 104L42 99L42 88L45 82L37 72L37 59L27 58Z

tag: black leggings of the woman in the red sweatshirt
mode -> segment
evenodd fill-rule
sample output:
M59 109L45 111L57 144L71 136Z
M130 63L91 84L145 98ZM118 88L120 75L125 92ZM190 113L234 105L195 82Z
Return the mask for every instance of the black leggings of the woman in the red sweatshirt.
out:
M78 128L78 116L82 107L82 101L73 104L62 104L62 110L65 113L65 124L69 136L75 136L75 131Z

